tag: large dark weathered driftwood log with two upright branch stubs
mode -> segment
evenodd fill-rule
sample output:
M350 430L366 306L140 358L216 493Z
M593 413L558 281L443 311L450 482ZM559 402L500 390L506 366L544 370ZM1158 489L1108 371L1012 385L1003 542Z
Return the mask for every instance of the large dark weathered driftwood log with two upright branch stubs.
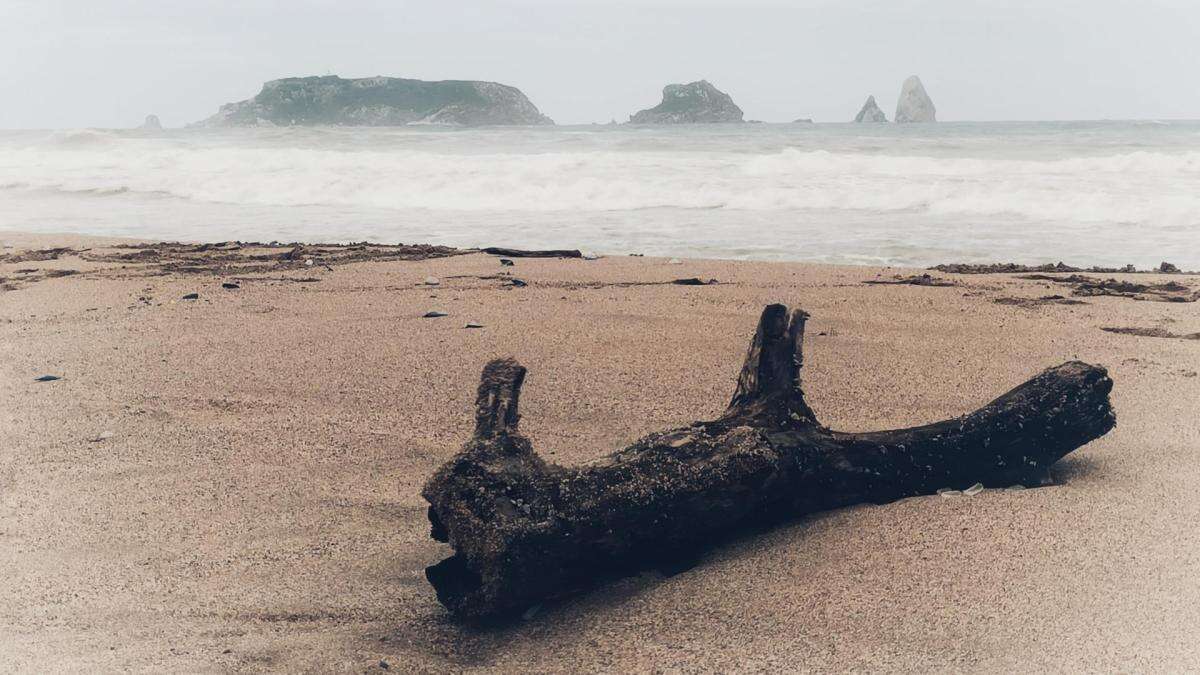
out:
M1116 424L1105 370L1072 362L964 417L830 431L800 387L806 318L763 311L720 418L577 467L546 462L517 431L524 368L487 364L474 437L424 490L433 538L455 549L426 569L438 599L463 619L503 615L756 524L976 482L1042 484L1050 465Z

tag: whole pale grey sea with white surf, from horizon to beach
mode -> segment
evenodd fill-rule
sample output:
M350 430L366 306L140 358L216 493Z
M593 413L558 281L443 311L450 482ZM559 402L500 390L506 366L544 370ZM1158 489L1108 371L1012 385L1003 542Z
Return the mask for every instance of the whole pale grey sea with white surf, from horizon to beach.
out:
M1200 123L0 131L0 229L1200 269Z

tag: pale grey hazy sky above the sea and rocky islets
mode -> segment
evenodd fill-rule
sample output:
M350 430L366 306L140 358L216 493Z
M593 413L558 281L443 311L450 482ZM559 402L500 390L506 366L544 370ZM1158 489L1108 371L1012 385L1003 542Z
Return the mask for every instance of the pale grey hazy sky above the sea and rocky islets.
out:
M0 0L0 127L196 121L287 76L520 86L624 121L707 78L748 119L1200 118L1200 0Z

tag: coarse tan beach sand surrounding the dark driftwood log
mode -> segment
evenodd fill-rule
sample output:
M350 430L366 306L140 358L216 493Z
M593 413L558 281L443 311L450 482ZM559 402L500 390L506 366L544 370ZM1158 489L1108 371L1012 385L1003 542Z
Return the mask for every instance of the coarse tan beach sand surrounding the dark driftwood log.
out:
M1025 307L994 300L1069 291L654 258L318 264L235 291L74 255L0 276L30 268L83 274L0 291L0 670L1200 668L1200 341L1102 330L1198 333L1200 303ZM500 271L529 286L475 277ZM683 276L720 285L638 285ZM806 388L833 428L964 413L1068 359L1109 368L1118 426L1052 488L821 514L508 627L448 617L419 491L468 437L487 359L529 368L523 429L582 462L715 416L772 301L812 315Z

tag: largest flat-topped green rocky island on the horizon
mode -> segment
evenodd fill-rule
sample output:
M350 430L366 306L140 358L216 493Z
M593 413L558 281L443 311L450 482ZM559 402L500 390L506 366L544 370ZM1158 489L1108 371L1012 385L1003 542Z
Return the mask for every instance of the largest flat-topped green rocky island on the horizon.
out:
M200 126L448 126L554 124L521 90L494 82L395 77L289 77L199 123Z

